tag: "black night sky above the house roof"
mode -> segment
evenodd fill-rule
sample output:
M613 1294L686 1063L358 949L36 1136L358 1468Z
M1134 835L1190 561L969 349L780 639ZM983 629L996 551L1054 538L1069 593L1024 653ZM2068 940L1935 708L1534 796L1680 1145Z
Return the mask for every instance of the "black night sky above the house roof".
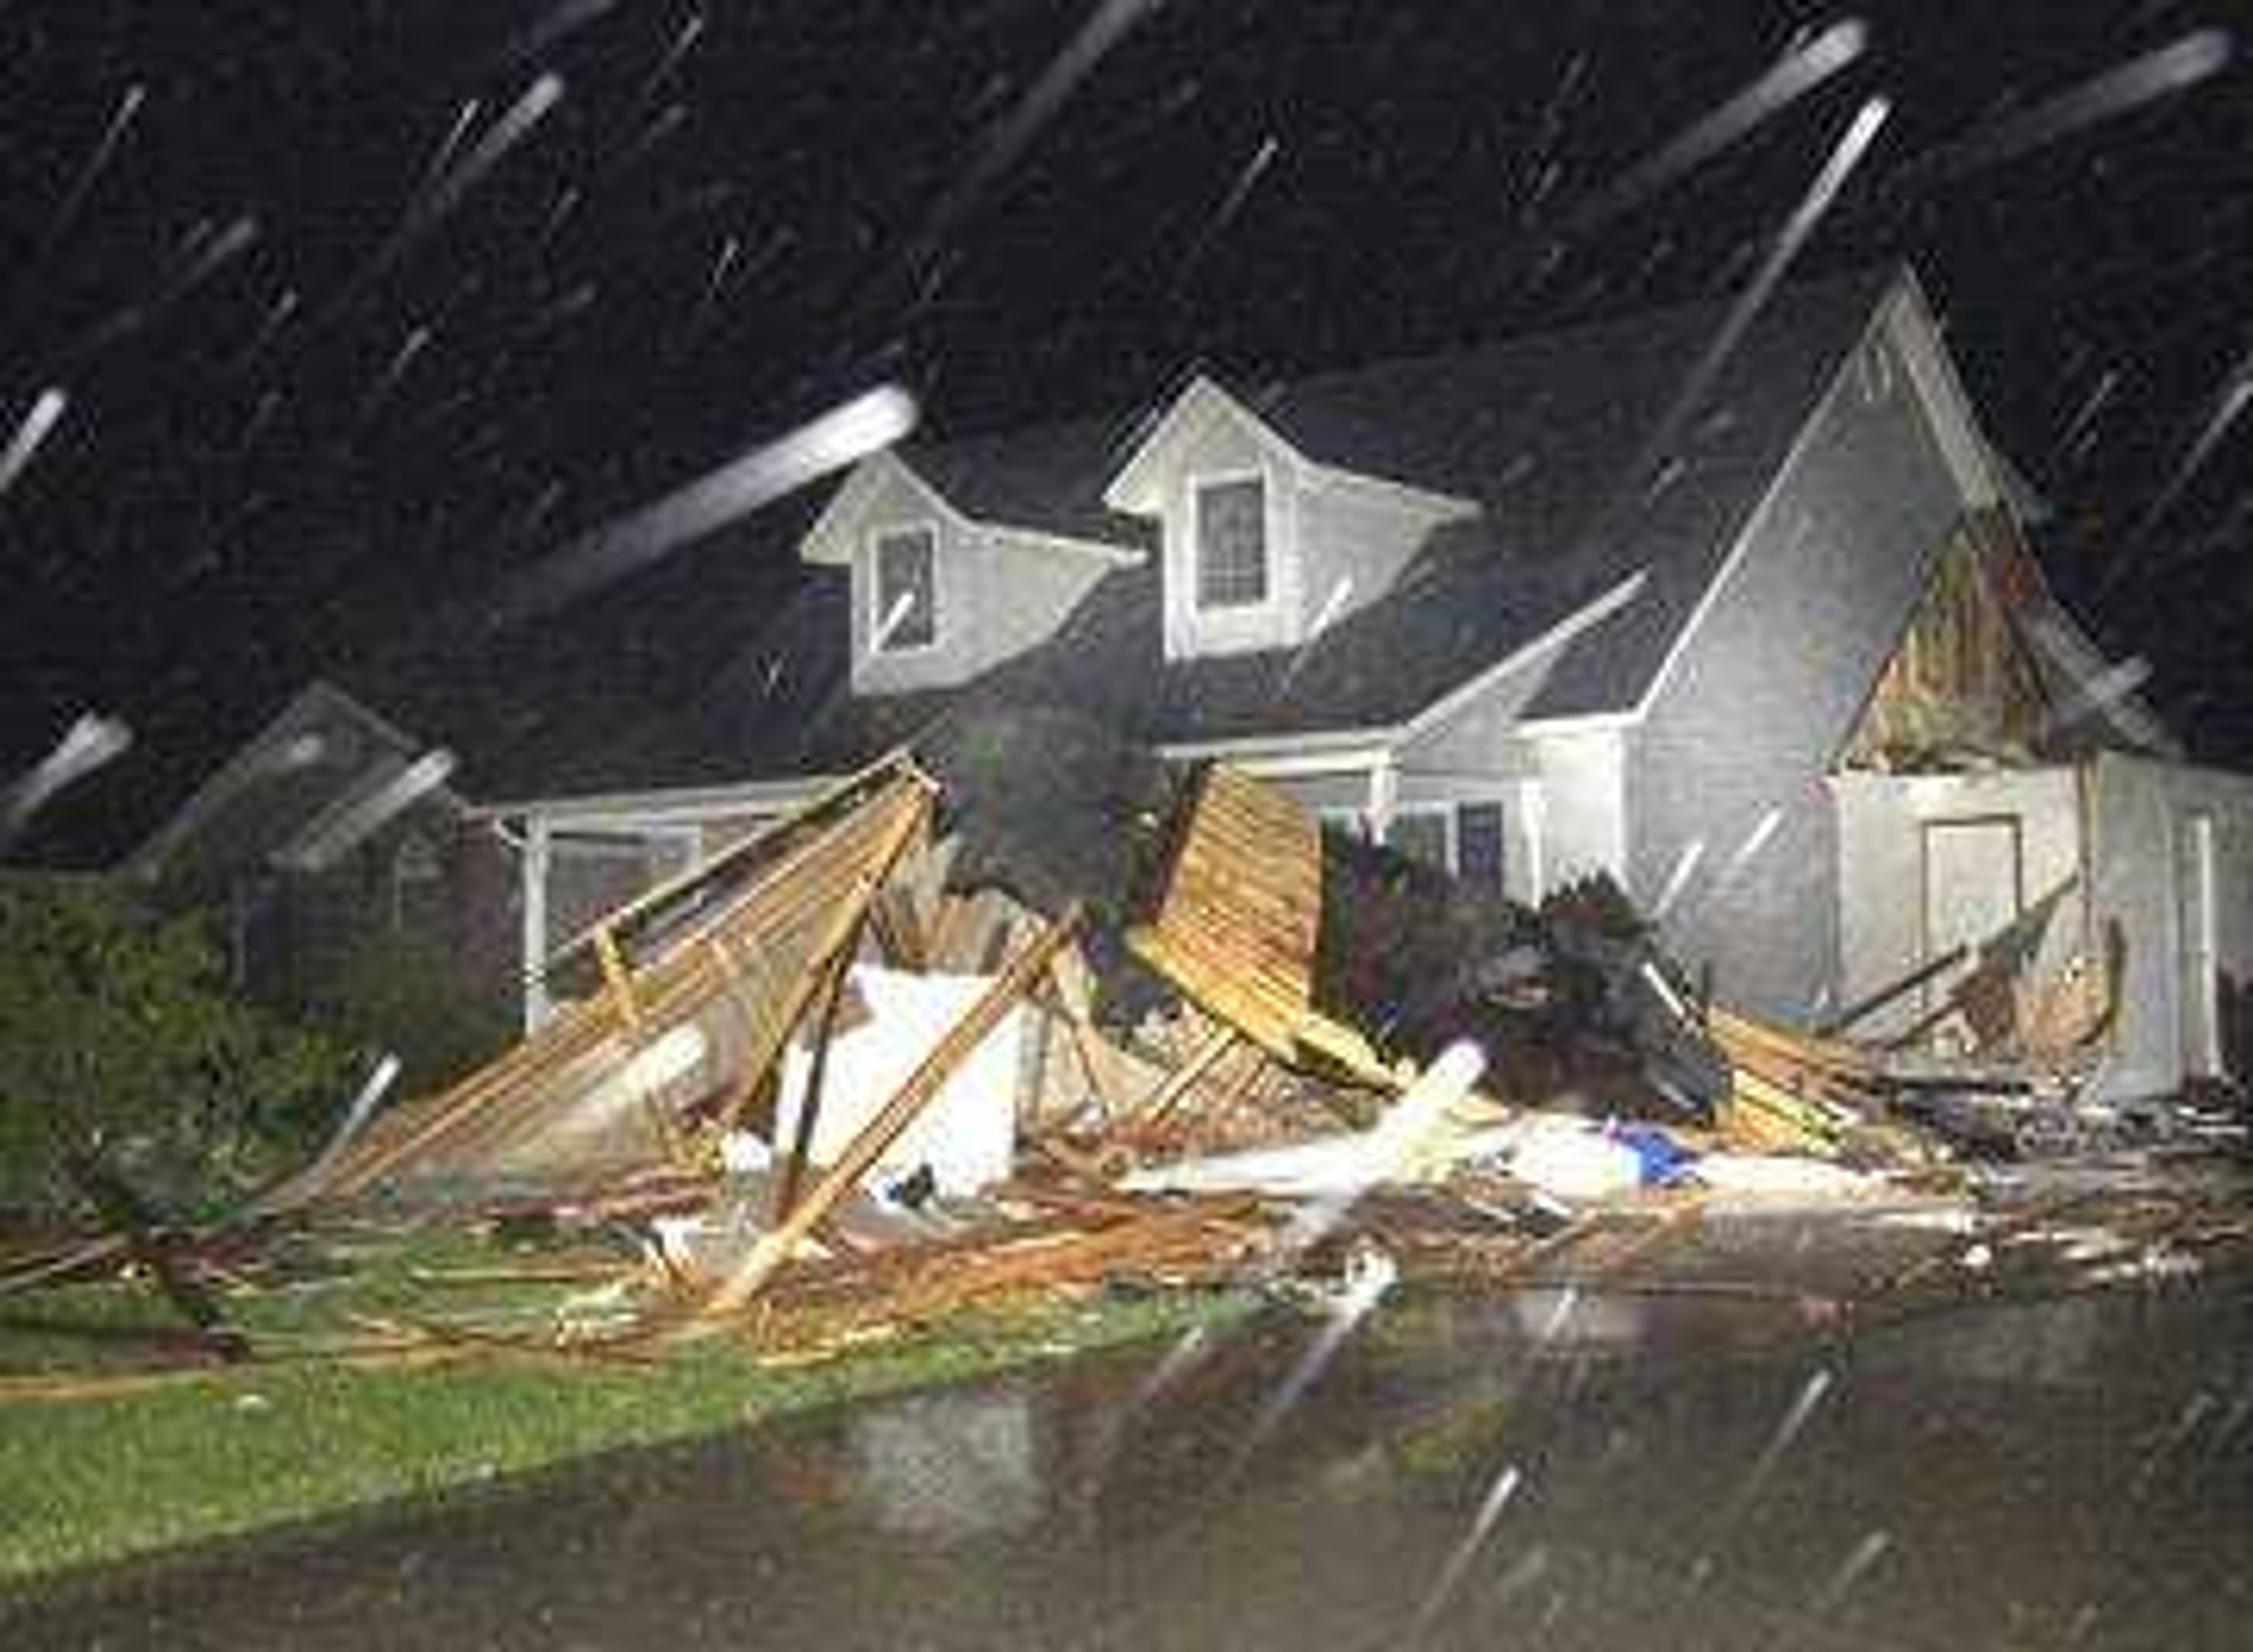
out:
M1043 70L1129 14L1003 153ZM2068 599L2149 656L2206 750L2253 760L2253 412L2217 424L2253 385L2244 32L2201 36L2235 47L2217 74L2131 72L2109 113L2100 86L2048 142L2007 142L2233 16L0 0L0 442L68 394L0 496L0 755L88 708L207 746L883 379L973 430L1131 406L1190 363L1286 372L1726 293L1886 95L1793 270L1917 261L1994 435L2073 530ZM1852 65L1559 246L1577 205L1843 18L1868 27ZM547 72L561 101L489 137ZM509 649L669 692L669 663L771 609L793 509L489 651L462 692Z

